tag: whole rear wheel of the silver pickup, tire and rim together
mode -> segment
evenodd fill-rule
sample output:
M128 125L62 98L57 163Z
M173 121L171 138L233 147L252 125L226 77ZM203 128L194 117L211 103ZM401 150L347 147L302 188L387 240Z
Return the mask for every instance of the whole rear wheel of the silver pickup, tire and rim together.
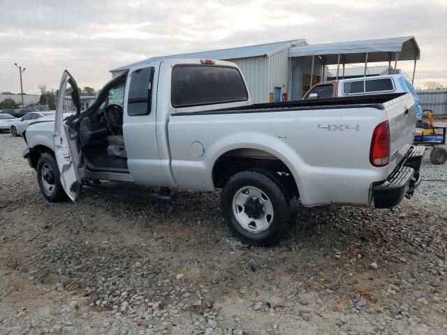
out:
M268 246L287 232L296 218L296 199L273 172L245 170L223 187L221 208L231 230L249 244Z

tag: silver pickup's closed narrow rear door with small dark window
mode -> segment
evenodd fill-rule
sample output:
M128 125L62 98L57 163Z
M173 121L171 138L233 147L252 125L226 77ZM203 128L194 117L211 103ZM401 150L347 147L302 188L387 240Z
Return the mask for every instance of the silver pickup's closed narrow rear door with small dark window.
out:
M132 68L129 73L124 95L124 143L135 184L170 186L161 172L156 134L158 70L145 66Z

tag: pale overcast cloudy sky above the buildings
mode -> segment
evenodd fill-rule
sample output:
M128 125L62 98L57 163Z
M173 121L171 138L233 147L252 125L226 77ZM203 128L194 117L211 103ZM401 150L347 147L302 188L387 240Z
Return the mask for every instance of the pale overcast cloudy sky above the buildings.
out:
M0 91L57 89L64 69L101 89L154 56L305 38L309 44L415 36L415 86L447 84L447 0L0 0ZM398 64L407 73L413 61Z

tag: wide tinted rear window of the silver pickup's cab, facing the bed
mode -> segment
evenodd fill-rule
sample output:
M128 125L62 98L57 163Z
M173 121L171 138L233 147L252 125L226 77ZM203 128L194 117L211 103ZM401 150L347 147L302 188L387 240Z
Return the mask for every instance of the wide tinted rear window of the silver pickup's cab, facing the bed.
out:
M173 68L173 107L247 100L247 88L237 68L214 65L177 65Z

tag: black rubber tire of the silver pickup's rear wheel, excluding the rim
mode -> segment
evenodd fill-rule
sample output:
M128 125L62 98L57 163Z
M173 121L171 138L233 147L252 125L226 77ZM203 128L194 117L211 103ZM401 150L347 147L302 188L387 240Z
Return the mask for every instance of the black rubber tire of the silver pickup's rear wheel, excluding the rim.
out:
M237 221L233 198L245 187L254 187L267 195L272 204L272 221L261 232L252 232ZM246 203L247 204L247 203ZM242 208L242 207L241 207ZM247 207L245 207L247 208ZM244 170L234 174L223 187L221 209L230 230L247 244L269 246L291 231L295 223L298 203L293 192L279 175L264 170ZM245 211L245 209L244 209ZM265 215L265 214L264 214Z

